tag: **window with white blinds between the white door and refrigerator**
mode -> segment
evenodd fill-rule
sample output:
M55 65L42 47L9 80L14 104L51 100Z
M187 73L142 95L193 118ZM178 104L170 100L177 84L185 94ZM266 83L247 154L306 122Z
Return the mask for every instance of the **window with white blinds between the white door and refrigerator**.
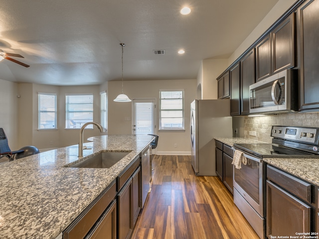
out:
M160 91L160 130L184 130L184 91Z

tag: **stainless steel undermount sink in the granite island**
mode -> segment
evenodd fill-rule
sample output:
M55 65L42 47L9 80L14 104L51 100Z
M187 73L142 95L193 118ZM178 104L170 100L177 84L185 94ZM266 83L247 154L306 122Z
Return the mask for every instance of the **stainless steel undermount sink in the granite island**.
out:
M110 168L129 153L130 152L101 152L68 167Z

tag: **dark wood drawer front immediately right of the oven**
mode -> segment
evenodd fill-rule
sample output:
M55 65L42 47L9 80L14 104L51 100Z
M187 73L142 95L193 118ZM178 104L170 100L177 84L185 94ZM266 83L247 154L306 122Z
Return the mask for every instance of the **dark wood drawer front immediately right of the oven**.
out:
M267 165L267 179L280 187L311 203L311 184Z

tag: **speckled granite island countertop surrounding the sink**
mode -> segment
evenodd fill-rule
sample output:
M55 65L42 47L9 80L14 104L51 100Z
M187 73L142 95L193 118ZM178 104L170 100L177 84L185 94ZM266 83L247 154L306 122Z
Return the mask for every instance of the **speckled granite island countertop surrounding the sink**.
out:
M153 138L89 138L83 159L103 150L132 150L108 169L64 167L78 160L78 145L0 164L0 238L55 239Z

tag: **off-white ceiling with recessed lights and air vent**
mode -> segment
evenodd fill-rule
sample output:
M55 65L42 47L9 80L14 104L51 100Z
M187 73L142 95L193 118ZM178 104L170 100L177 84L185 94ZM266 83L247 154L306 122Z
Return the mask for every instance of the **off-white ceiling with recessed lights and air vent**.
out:
M196 79L228 58L278 0L1 0L0 79L50 85ZM181 15L188 5L192 11ZM178 55L183 48L185 54ZM164 49L165 55L153 50Z

